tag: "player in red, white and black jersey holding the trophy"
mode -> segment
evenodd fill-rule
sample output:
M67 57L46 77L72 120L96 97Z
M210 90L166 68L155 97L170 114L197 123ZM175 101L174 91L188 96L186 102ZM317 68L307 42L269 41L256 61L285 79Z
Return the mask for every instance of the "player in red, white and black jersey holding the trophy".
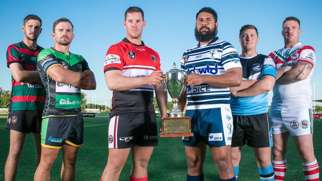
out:
M132 153L130 181L148 181L147 166L158 145L155 90L161 116L166 117L166 91L159 54L142 41L143 10L129 7L123 22L126 38L111 45L104 61L105 80L113 90L108 126L108 159L101 181L118 181Z

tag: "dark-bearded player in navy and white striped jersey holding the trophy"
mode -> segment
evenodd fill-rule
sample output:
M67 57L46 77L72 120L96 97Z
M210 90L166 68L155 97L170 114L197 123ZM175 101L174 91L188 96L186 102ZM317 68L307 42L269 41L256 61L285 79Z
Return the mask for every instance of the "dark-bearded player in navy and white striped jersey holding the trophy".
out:
M230 145L233 129L229 87L239 86L242 68L237 50L217 34L217 13L204 7L196 15L197 46L183 53L181 70L187 72L187 91L179 98L191 118L194 136L182 137L188 159L187 181L204 181L203 162L209 145L220 181L235 181Z

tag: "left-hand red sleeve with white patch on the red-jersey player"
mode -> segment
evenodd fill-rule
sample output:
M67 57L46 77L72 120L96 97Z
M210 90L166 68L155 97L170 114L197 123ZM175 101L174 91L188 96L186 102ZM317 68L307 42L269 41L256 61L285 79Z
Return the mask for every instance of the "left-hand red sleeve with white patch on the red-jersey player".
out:
M122 53L116 45L112 45L108 48L105 60L104 60L104 73L109 70L123 70L124 60Z

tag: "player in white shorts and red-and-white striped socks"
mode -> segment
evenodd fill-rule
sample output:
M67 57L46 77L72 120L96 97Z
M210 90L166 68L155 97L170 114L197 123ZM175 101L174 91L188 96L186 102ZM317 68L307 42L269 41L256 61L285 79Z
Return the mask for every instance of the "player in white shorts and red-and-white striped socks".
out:
M313 113L311 77L316 64L312 46L299 41L300 20L286 17L282 24L284 47L271 52L277 80L273 88L270 120L273 134L275 181L283 181L286 173L286 151L292 135L302 160L307 181L319 180L319 165L313 149Z

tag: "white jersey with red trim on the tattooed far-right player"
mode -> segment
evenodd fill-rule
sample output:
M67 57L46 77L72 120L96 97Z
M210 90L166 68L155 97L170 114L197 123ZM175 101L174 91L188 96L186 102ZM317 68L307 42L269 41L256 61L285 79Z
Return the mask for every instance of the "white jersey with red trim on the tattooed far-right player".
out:
M268 56L274 60L276 69L284 66L294 67L300 61L308 62L313 67L305 80L292 84L275 83L271 110L283 111L310 108L312 106L310 81L316 64L316 54L313 47L298 43L291 48L282 48L271 52Z

